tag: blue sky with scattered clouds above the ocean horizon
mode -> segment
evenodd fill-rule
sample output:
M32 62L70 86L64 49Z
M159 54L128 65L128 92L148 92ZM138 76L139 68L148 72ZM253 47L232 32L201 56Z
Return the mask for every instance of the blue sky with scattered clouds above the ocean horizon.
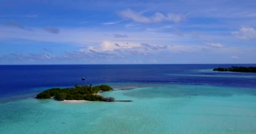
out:
M0 0L0 64L256 63L255 0Z

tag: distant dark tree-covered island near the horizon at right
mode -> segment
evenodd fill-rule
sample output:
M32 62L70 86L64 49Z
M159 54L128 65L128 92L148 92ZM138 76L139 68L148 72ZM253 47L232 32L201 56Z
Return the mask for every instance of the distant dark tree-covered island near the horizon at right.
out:
M213 71L229 71L229 72L256 72L256 67L228 67L214 68Z

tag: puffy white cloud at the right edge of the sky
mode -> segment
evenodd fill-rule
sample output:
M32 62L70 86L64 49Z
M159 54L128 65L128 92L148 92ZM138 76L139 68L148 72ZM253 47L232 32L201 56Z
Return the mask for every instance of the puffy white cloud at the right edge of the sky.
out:
M232 34L235 35L238 39L256 38L256 30L249 26L242 26L239 31L233 31Z

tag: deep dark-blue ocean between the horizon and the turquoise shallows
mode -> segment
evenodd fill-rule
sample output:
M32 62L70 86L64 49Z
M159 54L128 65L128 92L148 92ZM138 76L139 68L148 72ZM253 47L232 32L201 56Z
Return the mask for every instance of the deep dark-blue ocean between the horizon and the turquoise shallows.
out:
M32 97L46 88L72 87L76 83L172 83L256 88L256 73L212 71L216 67L232 66L254 67L256 64L0 65L0 101ZM82 81L82 77L86 80Z

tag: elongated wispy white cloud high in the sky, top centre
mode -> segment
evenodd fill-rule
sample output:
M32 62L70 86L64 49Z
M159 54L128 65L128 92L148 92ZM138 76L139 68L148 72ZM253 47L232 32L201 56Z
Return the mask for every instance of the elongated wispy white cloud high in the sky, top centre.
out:
M147 17L142 15L142 13L136 13L131 9L122 10L118 12L118 14L125 19L131 19L140 23L160 23L163 21L178 23L185 20L185 15L183 14L168 13L167 15L163 15L162 13L157 12L154 15Z

